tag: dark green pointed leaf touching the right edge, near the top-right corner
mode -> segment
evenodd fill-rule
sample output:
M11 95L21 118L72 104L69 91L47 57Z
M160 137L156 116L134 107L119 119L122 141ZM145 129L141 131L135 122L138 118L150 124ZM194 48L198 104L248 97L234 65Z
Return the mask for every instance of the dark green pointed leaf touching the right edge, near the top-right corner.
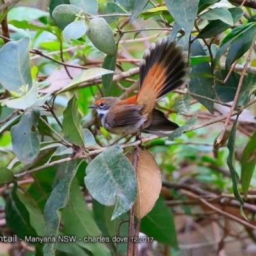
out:
M243 54L248 51L252 45L253 37L256 33L256 26L244 31L241 35L237 36L230 44L228 55L226 59L226 69L228 70L231 65L239 59Z

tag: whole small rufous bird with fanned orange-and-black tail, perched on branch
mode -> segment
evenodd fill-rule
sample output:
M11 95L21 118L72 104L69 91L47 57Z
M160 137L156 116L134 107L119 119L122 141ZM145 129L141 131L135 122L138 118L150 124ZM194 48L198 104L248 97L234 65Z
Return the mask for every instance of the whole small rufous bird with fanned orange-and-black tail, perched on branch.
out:
M156 101L179 86L189 83L188 53L176 41L167 38L151 44L140 63L140 90L124 100L103 97L89 108L97 110L102 126L113 134L147 132L163 135L179 125L155 108Z

